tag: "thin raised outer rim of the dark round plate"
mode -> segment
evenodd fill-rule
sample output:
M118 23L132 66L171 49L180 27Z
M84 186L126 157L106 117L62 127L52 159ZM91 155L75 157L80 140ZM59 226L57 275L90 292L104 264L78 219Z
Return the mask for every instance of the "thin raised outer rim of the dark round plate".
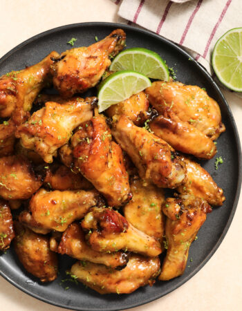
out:
M26 39L25 41L21 42L21 44L18 44L17 46L15 46L14 48L12 48L8 53L6 53L5 55L3 55L3 57L1 57L0 59L0 66L3 62L6 61L6 59L8 59L8 57L10 57L12 54L14 54L15 52L17 52L17 50L19 50L20 48L26 46L27 44L31 43L32 41L35 41L37 39L40 39L41 37L44 37L46 35L51 35L55 32L59 32L60 30L67 30L67 29L71 29L71 28L82 28L82 27L94 27L94 26L108 26L110 28L123 28L124 30L135 30L137 32L140 32L142 34L148 35L149 37L153 37L155 39L158 39L160 41L163 41L165 44L168 44L168 46L171 46L172 48L174 48L175 50L178 50L179 53L182 53L184 56L191 58L192 61L194 62L195 66L198 68L198 70L201 70L203 72L203 75L205 75L207 77L208 80L210 80L210 83L213 85L213 87L215 88L216 92L218 93L220 100L223 102L223 104L225 104L227 112L228 112L228 117L230 119L230 122L232 123L232 129L234 131L234 138L236 140L236 154L238 157L238 163L239 163L239 167L238 167L238 182L237 182L237 187L236 187L236 195L234 196L234 202L232 205L232 210L230 213L229 218L227 218L227 223L223 229L223 232L221 234L221 236L219 236L218 241L216 242L216 244L214 245L214 247L212 248L212 250L210 251L209 254L207 254L207 256L205 257L205 259L198 264L198 266L194 269L194 271L189 274L185 279L183 279L182 281L176 283L171 289L165 291L165 293L162 293L161 295L158 294L156 296L152 296L151 298L146 299L145 301L142 301L141 303L133 303L133 305L129 305L128 308L126 308L125 310L128 310L130 308L134 308L134 307L138 307L140 305L145 305L151 301L155 301L156 299L161 298L162 296L165 296L167 294L169 294L170 292L173 292L174 290L176 290L177 288L179 288L181 285L183 285L184 283L186 283L189 279L192 279L192 277L199 271L201 270L201 268L207 263L207 261L210 260L210 258L214 255L214 253L216 252L216 250L218 249L219 245L221 245L223 239L225 238L225 235L227 234L228 229L230 228L230 225L232 223L232 220L234 218L234 214L236 211L236 207L238 205L239 202L239 197L240 197L240 193L241 193L241 182L242 182L242 153L241 153L241 142L239 139L239 133L238 133L238 129L236 126L236 122L234 120L234 116L232 114L232 111L230 109L230 106L227 104L227 100L225 100L225 97L223 95L223 93L221 92L220 88L218 87L218 85L216 84L216 82L214 81L214 79L212 78L212 76L210 75L210 73L207 72L207 70L205 69L205 67L203 67L201 64L199 64L196 59L194 59L194 57L192 57L192 55L189 55L189 53L187 53L187 51L183 50L183 48L181 48L180 46L178 46L177 44L175 44L174 42L170 41L169 39L162 37L154 32L151 32L149 30L146 29L142 29L142 28L137 28L135 26L131 26L131 25L127 25L127 24L122 24L122 23L111 23L111 22L106 22L106 21L90 21L90 22L84 22L84 23L71 23L71 24L67 24L64 26L59 26L56 28L51 28L50 30L46 30L44 32L40 32L37 35L34 35L32 37L30 37L29 39ZM1 264L0 264L1 266ZM30 290L24 288L24 286L19 285L18 283L16 283L16 281L10 279L10 277L8 275L6 275L4 272L2 272L0 270L0 275L3 276L4 279L6 279L6 281L8 281L10 284L14 285L16 288L18 288L19 290L21 290L22 292L25 292L26 294L29 294L30 296L34 297L35 299L38 299L40 301L43 301L45 303L51 304L51 305L55 305L59 308L67 308L69 310L77 310L77 311L100 311L100 309L97 308L73 308L69 305L60 305L59 303L57 303L56 301L50 301L49 299L44 298L43 296L39 296L38 294L32 293ZM106 311L118 311L120 310L120 308L106 308Z

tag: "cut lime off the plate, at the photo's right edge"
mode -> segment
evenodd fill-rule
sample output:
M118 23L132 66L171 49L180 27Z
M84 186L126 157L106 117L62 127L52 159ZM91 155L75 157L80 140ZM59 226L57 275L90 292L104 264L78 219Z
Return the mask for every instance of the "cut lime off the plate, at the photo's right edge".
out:
M242 28L233 28L218 39L212 66L222 84L242 92Z

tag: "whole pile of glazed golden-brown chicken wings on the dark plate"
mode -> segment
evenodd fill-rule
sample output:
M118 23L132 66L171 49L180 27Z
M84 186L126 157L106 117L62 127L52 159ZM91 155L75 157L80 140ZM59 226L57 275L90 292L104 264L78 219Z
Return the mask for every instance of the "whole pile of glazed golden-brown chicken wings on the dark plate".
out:
M225 131L205 90L156 81L104 114L97 97L79 96L109 74L125 39L117 29L0 78L0 249L13 241L41 282L57 278L57 254L76 258L71 274L100 294L180 276L211 205L225 200L194 160L213 158ZM59 95L41 93L50 86Z

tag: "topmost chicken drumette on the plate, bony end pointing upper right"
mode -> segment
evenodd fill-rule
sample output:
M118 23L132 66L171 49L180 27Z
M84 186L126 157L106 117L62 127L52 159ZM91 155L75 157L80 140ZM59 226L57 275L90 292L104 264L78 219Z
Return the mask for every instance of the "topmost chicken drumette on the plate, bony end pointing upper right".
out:
M109 57L124 48L126 35L122 29L89 47L71 48L56 59L53 83L63 97L71 97L95 86L106 68L111 65Z

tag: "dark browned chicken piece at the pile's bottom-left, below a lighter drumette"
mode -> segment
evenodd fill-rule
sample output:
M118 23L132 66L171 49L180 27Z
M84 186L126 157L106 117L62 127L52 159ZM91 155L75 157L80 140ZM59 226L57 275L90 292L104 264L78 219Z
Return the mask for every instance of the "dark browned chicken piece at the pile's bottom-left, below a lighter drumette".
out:
M57 254L50 251L47 236L36 234L15 221L15 252L25 269L41 282L54 281L57 278Z

